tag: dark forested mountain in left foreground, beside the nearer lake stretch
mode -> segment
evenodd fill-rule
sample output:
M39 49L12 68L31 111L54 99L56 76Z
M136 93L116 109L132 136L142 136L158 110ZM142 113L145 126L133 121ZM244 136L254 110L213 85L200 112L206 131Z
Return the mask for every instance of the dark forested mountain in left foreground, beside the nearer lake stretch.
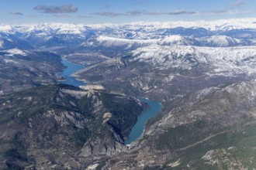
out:
M1 168L75 168L78 155L114 155L144 110L132 97L67 85L3 95L0 105Z

